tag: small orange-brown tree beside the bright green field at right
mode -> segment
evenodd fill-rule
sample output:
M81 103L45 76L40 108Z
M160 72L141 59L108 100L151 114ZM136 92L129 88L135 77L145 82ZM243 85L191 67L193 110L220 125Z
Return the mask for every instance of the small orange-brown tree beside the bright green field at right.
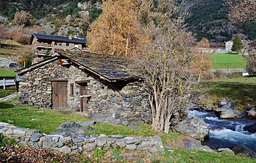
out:
M207 78L209 76L209 69L210 69L210 43L207 38L202 38L197 46L194 49L195 59L194 59L194 68L197 70L198 73L198 81L202 78Z

